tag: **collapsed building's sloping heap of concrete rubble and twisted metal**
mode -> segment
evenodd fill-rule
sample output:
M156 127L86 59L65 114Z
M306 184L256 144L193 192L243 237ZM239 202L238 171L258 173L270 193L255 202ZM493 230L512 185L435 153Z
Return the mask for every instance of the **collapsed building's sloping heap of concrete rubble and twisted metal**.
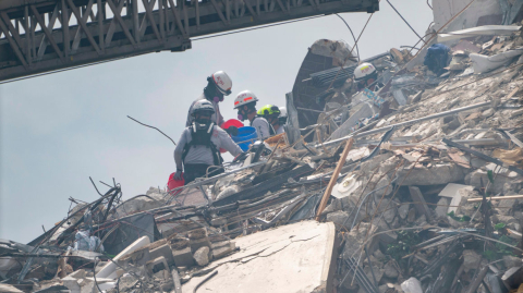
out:
M71 197L0 242L0 292L523 292L523 1L494 2L435 1L421 50L366 60L377 91L316 41L285 134L182 187Z

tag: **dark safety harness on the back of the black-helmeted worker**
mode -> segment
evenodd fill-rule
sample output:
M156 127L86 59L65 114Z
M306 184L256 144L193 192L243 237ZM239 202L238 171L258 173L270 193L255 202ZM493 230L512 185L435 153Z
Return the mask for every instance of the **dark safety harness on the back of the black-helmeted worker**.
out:
M214 127L215 127L214 122L211 122L210 124L202 124L202 123L193 122L193 124L190 126L192 139L188 144L185 144L185 146L183 147L183 152L182 152L183 163L185 163L185 157L187 156L191 147L206 146L210 149L210 152L212 154L214 164L221 166L221 163L223 162L223 158L221 158L220 152L218 151L218 148L210 141L210 137L212 136Z

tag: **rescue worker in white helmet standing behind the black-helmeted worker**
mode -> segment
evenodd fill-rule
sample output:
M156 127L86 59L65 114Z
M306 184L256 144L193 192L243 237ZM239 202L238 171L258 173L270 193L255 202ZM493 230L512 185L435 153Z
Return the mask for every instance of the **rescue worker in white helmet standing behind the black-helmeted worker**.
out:
M187 122L185 126L188 127L193 123L193 108L194 105L202 99L206 99L212 103L215 108L215 113L211 117L211 121L216 125L221 125L223 123L223 117L220 113L220 106L218 102L223 101L224 96L231 94L232 81L223 71L217 71L215 74L207 77L207 86L204 88L204 93L191 103L187 113Z

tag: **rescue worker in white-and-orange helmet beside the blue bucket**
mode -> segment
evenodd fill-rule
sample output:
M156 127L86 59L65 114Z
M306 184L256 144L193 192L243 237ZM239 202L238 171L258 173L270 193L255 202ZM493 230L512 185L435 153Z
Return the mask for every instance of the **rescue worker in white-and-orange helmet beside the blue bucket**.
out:
M238 94L238 97L234 100L234 109L238 109L238 119L241 121L247 119L251 122L251 126L256 129L258 138L265 139L275 135L276 132L265 118L257 115L257 101L258 98L251 90L243 90Z

